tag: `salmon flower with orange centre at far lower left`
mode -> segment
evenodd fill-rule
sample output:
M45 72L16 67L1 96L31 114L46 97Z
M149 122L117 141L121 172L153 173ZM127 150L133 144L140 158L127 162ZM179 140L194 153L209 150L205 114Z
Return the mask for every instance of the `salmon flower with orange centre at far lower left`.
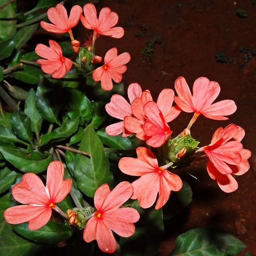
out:
M52 209L62 201L72 188L72 180L63 179L64 166L60 161L52 161L48 166L46 187L35 173L26 173L22 181L12 188L12 196L19 203L5 210L4 218L10 224L29 221L30 230L46 225L51 218Z

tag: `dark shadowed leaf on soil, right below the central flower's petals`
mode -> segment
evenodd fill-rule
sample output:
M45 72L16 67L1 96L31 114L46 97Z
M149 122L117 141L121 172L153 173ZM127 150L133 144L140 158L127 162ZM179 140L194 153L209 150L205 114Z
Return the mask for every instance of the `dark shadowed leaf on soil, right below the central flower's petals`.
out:
M183 187L178 192L172 192L169 200L163 207L164 220L171 219L183 211L192 201L190 185L183 181Z

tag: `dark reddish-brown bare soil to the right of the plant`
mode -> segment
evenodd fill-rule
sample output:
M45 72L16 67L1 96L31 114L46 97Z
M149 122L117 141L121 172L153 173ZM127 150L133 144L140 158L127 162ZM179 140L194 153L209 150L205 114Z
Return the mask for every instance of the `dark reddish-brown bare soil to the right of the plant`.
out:
M132 59L123 82L126 85L138 82L144 90L150 89L155 98L165 87L174 89L174 81L179 76L184 76L191 87L200 76L217 81L221 86L218 100L233 99L238 110L227 121L199 117L192 127L193 136L201 141L201 146L207 145L218 127L235 123L244 127L246 137L242 143L254 153L256 56L250 56L250 52L256 48L256 5L252 2L100 1L98 10L109 6L118 13L118 25L125 28L125 36L118 40L100 37L96 43L97 55L104 56L112 47L117 47L119 53L130 52ZM248 17L238 17L238 9L245 10ZM145 43L157 36L161 37L158 40L161 42L154 45L152 56L148 57L150 62L147 62L142 57ZM224 63L215 58L219 52L224 52ZM218 56L223 56L223 53ZM174 120L170 124L173 134L183 130L191 117L192 114L182 113ZM246 242L245 252L256 255L254 155L250 158L250 165L250 171L237 177L238 190L230 194L220 190L205 167L199 168L197 163L191 166L188 172L197 180L188 174L186 179L193 190L193 201L186 212L166 223L159 255L172 251L177 235L205 226L232 233Z

